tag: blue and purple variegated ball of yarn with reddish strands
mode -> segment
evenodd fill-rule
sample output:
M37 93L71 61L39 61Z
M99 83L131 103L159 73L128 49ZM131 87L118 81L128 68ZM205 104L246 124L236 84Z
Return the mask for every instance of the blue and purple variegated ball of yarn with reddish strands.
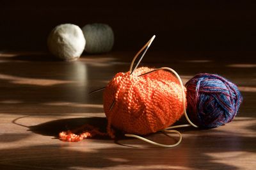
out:
M186 83L189 119L214 128L234 119L243 100L236 84L220 75L200 73Z

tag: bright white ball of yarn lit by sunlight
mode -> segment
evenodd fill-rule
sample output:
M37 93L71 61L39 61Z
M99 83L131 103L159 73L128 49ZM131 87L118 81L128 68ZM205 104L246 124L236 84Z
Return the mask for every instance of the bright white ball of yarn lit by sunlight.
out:
M54 56L74 61L81 56L85 47L83 31L74 24L61 24L52 29L47 45Z

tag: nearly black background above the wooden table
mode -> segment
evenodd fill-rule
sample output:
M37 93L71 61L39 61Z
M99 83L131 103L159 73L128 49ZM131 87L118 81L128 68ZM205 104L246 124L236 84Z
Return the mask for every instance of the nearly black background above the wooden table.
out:
M113 50L254 54L256 1L0 1L0 50L43 50L58 24L109 24Z

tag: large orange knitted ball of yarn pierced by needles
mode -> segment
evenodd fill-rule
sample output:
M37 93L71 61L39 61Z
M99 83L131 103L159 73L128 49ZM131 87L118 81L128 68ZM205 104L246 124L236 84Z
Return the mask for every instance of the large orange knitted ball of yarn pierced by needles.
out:
M109 125L125 133L145 135L179 120L184 108L178 79L164 70L139 76L152 70L141 67L132 74L117 73L109 82L103 97Z

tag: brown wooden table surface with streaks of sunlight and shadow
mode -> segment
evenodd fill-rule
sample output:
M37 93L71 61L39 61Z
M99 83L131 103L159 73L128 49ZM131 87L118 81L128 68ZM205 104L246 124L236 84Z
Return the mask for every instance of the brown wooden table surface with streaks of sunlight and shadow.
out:
M255 169L256 59L149 51L143 66L168 66L186 82L218 73L244 97L234 121L209 130L181 128L182 142L159 148L138 139L85 139L65 143L58 132L91 123L104 129L102 92L117 72L129 70L135 52L84 54L63 62L40 52L0 52L0 169ZM177 124L184 123L180 120ZM175 143L161 133L147 136Z

